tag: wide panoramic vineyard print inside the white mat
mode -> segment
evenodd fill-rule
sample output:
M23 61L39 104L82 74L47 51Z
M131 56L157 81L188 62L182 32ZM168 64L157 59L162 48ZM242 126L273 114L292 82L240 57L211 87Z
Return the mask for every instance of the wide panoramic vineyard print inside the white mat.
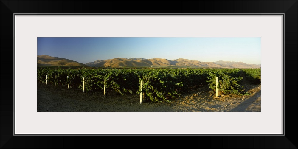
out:
M261 112L260 37L38 37L38 112Z

